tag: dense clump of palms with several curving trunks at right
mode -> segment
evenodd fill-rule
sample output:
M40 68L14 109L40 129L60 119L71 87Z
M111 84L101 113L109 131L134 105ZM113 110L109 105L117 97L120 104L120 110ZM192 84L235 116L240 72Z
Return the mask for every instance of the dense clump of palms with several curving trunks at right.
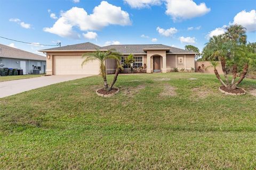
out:
M209 61L220 61L226 82L220 79L215 65L214 73L216 77L223 86L228 89L236 89L237 85L244 80L255 53L252 53L250 48L245 45L247 36L241 25L231 25L226 30L224 35L210 38L209 43L204 47L203 57ZM231 82L227 76L229 70L232 70L233 75ZM237 73L240 71L241 76L236 81Z

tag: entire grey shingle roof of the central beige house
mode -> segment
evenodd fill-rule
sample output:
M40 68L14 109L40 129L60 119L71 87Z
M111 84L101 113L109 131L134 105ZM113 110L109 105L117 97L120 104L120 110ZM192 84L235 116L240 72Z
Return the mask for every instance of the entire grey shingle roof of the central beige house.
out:
M175 48L166 46L163 44L145 44L145 45L109 45L100 47L92 43L82 43L82 44L75 44L75 45L69 45L69 46L63 46L63 47L57 47L57 48L50 48L50 49L43 49L39 50L39 52L51 52L51 51L58 51L58 50L108 50L111 48L115 48L117 52L122 54L146 54L146 51L144 49L165 49L167 53L193 53L185 49ZM193 53L194 54L194 53Z

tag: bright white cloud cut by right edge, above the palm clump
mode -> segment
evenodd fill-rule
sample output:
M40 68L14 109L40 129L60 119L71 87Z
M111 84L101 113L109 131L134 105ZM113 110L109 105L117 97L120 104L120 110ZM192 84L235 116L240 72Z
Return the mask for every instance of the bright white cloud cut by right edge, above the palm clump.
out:
M243 25L249 32L256 31L256 11L241 11L237 13L232 24Z

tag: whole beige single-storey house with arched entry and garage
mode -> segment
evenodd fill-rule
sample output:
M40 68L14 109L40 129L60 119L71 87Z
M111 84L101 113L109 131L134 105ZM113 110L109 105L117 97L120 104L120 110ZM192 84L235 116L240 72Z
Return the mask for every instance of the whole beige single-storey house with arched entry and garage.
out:
M171 72L175 67L185 69L185 71L195 68L196 53L162 44L100 47L92 43L82 43L39 50L39 52L46 53L46 74L99 74L99 62L93 61L82 66L84 60L82 55L87 52L94 52L96 49L106 51L112 48L123 55L121 64L123 64L125 57L133 54L135 58L133 67L146 64L147 73ZM114 73L116 63L113 60L107 60L106 67L107 73Z

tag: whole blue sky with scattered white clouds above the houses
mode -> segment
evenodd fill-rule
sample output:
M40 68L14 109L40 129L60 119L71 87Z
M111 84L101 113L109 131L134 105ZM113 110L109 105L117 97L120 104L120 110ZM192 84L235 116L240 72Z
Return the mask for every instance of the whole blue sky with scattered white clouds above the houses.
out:
M255 7L255 0L0 0L0 36L62 46L90 41L202 49L233 23L247 28L247 40L255 42ZM1 38L0 44L33 53L51 48Z

